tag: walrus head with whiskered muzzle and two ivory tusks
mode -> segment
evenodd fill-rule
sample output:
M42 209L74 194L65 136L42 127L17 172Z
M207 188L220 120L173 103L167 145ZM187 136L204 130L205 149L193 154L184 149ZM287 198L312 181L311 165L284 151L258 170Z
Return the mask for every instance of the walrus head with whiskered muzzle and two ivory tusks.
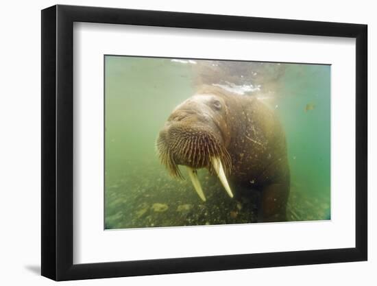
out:
M230 143L226 98L215 93L197 93L178 105L157 139L161 163L175 178L183 178L178 165L189 171L195 191L206 197L197 178L197 169L215 171L223 187L233 197L227 176L232 169L227 146Z

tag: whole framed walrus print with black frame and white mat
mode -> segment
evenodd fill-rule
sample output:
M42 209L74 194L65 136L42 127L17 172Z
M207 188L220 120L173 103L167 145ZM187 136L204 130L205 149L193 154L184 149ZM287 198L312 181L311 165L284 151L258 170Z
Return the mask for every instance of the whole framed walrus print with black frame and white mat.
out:
M42 275L367 259L367 26L42 10Z

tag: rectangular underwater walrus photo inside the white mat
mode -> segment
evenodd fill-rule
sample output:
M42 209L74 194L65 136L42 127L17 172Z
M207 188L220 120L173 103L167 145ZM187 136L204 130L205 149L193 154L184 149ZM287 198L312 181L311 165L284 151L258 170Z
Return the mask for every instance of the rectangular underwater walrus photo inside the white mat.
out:
M104 228L330 219L330 65L104 56Z

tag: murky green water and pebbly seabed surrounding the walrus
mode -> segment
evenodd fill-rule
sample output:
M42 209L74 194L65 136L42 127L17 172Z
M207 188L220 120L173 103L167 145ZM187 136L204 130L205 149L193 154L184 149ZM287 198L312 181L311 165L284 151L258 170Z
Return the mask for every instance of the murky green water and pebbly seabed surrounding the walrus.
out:
M330 219L330 66L106 56L105 227L256 222L253 195L232 200L202 170L204 203L189 180L171 178L158 160L159 130L203 83L243 87L276 110L291 168L287 216Z

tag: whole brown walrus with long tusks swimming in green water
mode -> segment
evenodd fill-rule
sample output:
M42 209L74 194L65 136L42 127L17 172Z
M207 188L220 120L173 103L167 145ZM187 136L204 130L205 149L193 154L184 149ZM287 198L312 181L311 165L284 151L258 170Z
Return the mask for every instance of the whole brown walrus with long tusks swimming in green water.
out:
M217 174L230 198L259 191L258 222L287 220L290 171L284 130L256 97L202 86L171 112L156 147L171 176L183 178L178 165L186 166L203 201L200 168Z

